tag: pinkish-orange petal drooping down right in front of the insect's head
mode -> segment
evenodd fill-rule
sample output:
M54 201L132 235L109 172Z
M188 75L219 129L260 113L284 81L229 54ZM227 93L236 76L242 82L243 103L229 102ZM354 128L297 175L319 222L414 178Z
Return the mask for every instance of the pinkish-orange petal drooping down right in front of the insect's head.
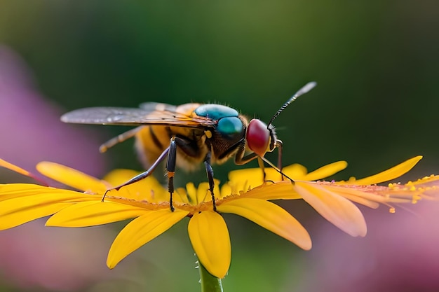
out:
M327 221L351 236L365 236L365 218L355 204L312 182L296 181L295 190Z

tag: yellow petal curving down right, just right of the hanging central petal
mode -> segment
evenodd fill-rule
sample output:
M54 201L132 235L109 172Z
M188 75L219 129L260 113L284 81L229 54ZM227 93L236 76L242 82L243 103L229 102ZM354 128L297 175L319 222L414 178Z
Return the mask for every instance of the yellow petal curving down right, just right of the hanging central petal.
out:
M224 213L234 213L255 222L266 230L290 240L302 249L311 249L311 237L290 213L276 204L265 200L247 199L224 202L217 207Z

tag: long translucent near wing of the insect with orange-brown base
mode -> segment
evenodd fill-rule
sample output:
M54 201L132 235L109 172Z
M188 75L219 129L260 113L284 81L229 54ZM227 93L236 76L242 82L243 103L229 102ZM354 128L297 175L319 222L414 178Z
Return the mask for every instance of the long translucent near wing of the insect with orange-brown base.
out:
M149 109L151 109L149 107ZM65 113L65 123L96 125L170 125L177 127L212 126L215 121L196 116L193 111L180 113L170 110L129 109L119 107L91 107Z

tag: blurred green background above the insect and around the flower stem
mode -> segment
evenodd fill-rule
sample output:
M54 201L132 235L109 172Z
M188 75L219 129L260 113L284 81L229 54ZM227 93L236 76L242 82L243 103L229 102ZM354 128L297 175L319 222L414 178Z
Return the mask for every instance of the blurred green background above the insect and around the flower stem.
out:
M347 160L349 170L335 179L373 174L419 154L424 160L404 179L439 172L438 29L436 1L0 0L0 43L25 60L40 94L63 111L218 102L268 121L292 93L317 81L274 124L285 165L315 169ZM97 130L103 142L125 129ZM132 146L105 154L102 174L140 169ZM215 175L224 181L231 169L233 162L215 167ZM290 208L313 237L323 220L304 204ZM243 218L227 220L233 260L225 291L291 291L309 272L301 269L307 253L296 246ZM177 225L137 251L144 270L118 285L197 291L185 229ZM88 289L101 291L99 285Z

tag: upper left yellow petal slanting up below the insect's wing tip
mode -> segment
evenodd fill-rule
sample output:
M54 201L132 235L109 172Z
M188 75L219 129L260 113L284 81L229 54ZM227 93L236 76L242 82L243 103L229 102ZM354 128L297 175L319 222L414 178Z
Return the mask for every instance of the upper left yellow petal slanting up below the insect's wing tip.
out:
M39 162L36 169L50 179L84 192L103 194L109 187L100 179L54 162Z

